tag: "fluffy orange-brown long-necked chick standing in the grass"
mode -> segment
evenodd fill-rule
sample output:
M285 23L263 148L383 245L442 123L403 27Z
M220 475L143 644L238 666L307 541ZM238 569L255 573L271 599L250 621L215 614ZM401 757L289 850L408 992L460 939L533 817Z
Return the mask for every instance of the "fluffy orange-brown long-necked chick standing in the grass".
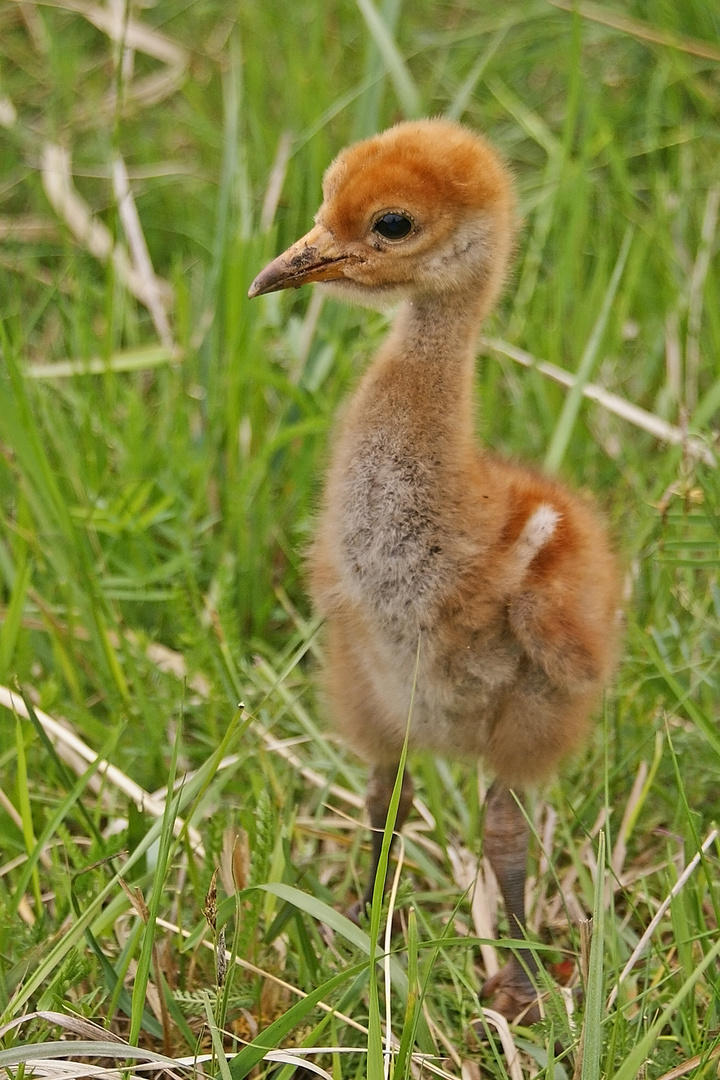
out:
M410 752L480 759L492 777L484 852L510 934L526 941L481 994L532 1023L526 804L586 737L617 660L621 595L593 501L476 437L478 336L515 218L511 170L484 135L402 122L338 154L313 228L248 295L320 282L395 310L337 421L308 554L328 707L370 769L372 865L351 914L372 897L406 728ZM412 798L406 769L396 831Z

